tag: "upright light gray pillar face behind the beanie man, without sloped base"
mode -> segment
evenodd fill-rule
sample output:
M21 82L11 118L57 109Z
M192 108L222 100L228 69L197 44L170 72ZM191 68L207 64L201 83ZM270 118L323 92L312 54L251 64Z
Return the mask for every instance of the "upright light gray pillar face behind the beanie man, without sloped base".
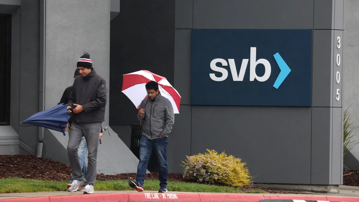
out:
M85 4L46 0L45 109L56 106L65 88L74 83L76 63L84 51L90 53L93 68L105 78L109 89L109 10L109 0ZM107 105L104 124L108 124L108 116Z

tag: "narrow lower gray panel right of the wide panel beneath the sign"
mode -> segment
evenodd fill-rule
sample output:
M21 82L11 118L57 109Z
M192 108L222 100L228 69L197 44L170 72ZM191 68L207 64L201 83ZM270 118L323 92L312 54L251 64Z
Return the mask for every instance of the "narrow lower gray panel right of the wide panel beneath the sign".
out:
M311 184L331 183L331 107L312 107Z

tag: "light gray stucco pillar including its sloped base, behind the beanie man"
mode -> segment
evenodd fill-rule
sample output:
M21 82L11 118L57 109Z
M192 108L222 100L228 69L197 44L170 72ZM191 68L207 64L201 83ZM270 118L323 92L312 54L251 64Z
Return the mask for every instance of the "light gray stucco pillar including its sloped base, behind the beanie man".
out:
M107 82L109 90L110 51L109 0L46 0L46 70L45 110L56 106L65 88L74 81L76 63L84 51L90 53L93 68ZM108 125L109 92L103 127ZM109 128L105 132L98 152L98 173L134 173L138 159ZM46 130L44 155L51 160L68 163L68 133ZM55 152L56 151L56 152ZM123 163L126 162L126 163Z

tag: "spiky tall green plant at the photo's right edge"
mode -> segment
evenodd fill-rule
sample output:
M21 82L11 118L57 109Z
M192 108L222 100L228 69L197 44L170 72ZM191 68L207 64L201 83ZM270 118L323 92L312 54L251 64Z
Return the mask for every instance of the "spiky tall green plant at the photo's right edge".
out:
M359 140L353 140L353 141L351 140L351 138L354 137L356 130L355 130L355 128L350 127L353 124L353 121L351 121L351 119L353 117L350 117L350 112L348 112L349 107L344 111L344 152L343 152L343 156L345 156L346 153L348 153L356 144L359 143Z

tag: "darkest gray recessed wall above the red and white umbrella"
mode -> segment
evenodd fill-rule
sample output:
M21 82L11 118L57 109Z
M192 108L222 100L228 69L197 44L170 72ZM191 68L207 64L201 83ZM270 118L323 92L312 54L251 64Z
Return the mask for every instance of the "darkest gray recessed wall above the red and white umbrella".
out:
M111 125L139 123L138 110L120 92L123 74L149 70L173 85L174 19L174 0L121 0L121 12L110 22Z

